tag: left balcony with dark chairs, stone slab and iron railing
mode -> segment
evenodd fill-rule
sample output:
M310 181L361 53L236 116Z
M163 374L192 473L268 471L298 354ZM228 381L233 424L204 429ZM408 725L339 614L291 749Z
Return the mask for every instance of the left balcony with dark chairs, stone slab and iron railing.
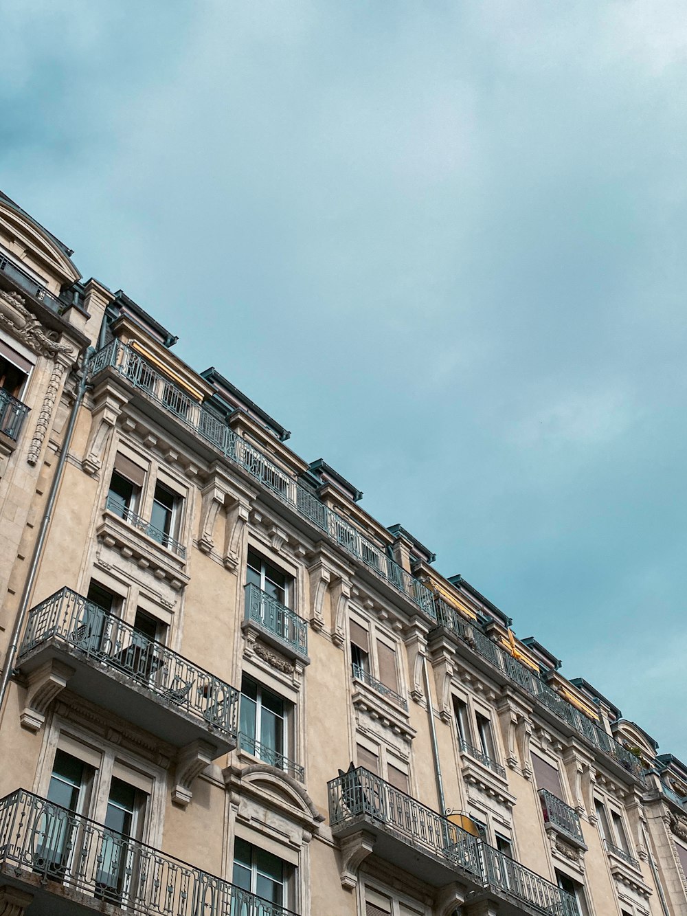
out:
M69 588L29 612L17 657L29 704L56 662L61 686L69 682L71 691L174 747L202 739L215 747L216 757L236 747L234 687ZM28 723L35 717L38 727L44 717L30 709L22 715Z

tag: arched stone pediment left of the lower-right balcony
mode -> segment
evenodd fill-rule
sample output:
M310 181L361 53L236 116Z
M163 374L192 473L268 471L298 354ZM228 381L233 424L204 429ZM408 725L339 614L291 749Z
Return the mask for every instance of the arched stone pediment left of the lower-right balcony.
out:
M242 800L250 801L254 812L256 805L262 807L309 834L317 833L324 820L324 815L317 810L298 780L266 764L243 769L227 767L224 769L224 785L231 793L232 802L240 805Z

